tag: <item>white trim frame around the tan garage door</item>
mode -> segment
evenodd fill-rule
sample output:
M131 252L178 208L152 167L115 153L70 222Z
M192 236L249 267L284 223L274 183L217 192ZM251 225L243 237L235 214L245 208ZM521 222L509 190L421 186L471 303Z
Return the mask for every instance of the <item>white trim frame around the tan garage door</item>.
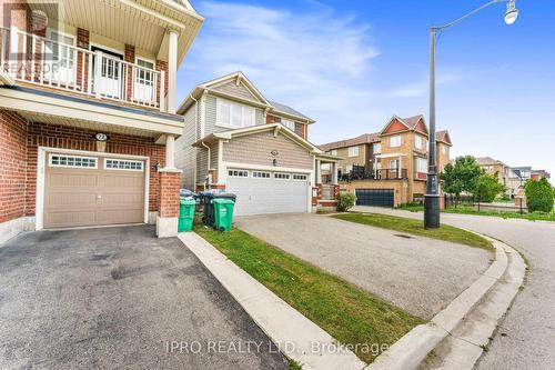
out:
M50 148L50 147L39 147L38 158L37 158L37 194L36 194L36 230L42 230L44 226L43 212L44 212L44 171L46 171L46 158L48 153L63 153L63 154L84 154L92 156L95 158L127 158L127 159L139 159L144 161L144 223L149 222L149 187L150 187L150 158L145 156L130 156L130 154L115 154L115 153L101 153L94 151L84 150L73 150L73 149L61 149L61 148Z

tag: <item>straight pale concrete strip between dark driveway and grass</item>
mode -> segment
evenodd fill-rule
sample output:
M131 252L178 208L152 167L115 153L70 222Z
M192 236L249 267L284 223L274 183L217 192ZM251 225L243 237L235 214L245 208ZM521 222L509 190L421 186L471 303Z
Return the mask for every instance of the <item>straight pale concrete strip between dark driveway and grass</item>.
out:
M303 369L362 370L366 363L194 232L178 238L287 358ZM314 350L317 346L320 350Z

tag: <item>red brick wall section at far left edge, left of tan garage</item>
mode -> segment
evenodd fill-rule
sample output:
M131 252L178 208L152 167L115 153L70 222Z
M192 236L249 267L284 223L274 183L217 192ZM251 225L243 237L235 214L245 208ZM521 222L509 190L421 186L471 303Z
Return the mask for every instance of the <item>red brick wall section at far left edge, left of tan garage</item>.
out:
M0 110L0 222L26 211L27 122Z

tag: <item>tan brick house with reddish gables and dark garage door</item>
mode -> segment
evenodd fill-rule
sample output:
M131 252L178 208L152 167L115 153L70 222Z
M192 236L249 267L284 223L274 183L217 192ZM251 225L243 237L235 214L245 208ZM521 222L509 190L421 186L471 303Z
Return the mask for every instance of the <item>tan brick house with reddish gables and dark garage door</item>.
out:
M323 178L339 177L342 190L355 193L361 206L397 207L422 201L426 189L428 130L423 116L394 116L382 131L320 146L342 158L336 171L322 167ZM450 162L447 131L436 132L436 163Z

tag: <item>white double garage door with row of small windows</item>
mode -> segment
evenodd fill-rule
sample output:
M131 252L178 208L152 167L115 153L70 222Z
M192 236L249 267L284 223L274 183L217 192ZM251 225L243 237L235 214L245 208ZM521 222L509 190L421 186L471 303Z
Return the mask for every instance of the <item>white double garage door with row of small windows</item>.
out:
M226 192L238 196L235 214L306 212L307 173L230 169Z

